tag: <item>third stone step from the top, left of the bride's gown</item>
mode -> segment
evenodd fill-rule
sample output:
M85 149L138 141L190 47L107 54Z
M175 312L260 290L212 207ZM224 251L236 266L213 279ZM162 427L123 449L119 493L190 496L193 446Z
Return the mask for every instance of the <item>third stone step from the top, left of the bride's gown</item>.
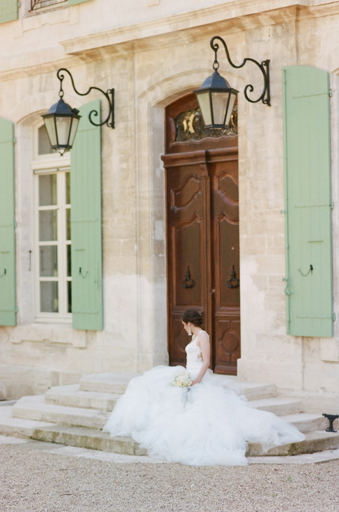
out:
M23 396L12 409L13 417L102 429L110 413L96 409L55 406L46 403L44 395Z

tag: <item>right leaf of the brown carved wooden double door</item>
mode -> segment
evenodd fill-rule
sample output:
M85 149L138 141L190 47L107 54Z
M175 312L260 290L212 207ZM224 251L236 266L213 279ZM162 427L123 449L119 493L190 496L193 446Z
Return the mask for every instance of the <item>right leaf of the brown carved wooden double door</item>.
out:
M213 159L225 158L225 161ZM213 369L236 374L240 357L238 155L211 156Z

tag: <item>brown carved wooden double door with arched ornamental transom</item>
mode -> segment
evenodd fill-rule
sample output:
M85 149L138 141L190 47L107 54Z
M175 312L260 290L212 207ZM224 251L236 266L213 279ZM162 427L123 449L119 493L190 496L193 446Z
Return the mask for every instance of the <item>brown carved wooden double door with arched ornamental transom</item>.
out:
M231 131L212 136L193 94L166 108L168 351L185 364L181 315L205 312L211 368L236 374L240 357L237 111Z

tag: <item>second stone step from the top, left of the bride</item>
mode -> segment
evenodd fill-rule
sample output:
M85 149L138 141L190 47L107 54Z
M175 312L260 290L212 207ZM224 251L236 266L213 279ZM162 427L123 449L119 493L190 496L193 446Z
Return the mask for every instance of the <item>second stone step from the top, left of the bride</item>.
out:
M55 406L112 411L121 395L98 391L82 391L79 385L56 386L45 394L46 403Z

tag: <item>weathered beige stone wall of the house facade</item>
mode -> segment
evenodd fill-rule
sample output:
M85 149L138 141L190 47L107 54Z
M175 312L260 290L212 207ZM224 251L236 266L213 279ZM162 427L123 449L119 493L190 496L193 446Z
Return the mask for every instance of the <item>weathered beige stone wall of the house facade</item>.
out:
M0 116L16 123L17 137L19 313L17 327L0 328L0 393L41 392L65 379L73 381L81 373L140 372L167 363L161 162L165 106L199 87L211 73L209 41L213 35L227 40L235 63L249 56L259 61L268 58L271 63L272 107L250 104L242 93L238 99L239 375L290 390L336 391L337 322L335 338L286 335L284 216L280 212L284 209L281 69L298 64L332 73L334 310L338 313L339 2L211 1L208 8L206 2L196 0L130 2L130 6L128 2L119 4L115 16L106 0L27 17L20 10L17 22L1 26L5 58L0 62ZM242 91L251 81L261 91L260 73L251 63L236 70L229 67L222 52L219 60L220 73L233 87ZM81 91L93 85L116 90L116 129L102 129L102 332L39 325L32 310L33 278L27 266L33 243L29 214L32 137L39 115L57 99L55 72L63 66L70 69ZM64 90L72 106L82 103L66 79ZM15 392L10 374L22 381Z

